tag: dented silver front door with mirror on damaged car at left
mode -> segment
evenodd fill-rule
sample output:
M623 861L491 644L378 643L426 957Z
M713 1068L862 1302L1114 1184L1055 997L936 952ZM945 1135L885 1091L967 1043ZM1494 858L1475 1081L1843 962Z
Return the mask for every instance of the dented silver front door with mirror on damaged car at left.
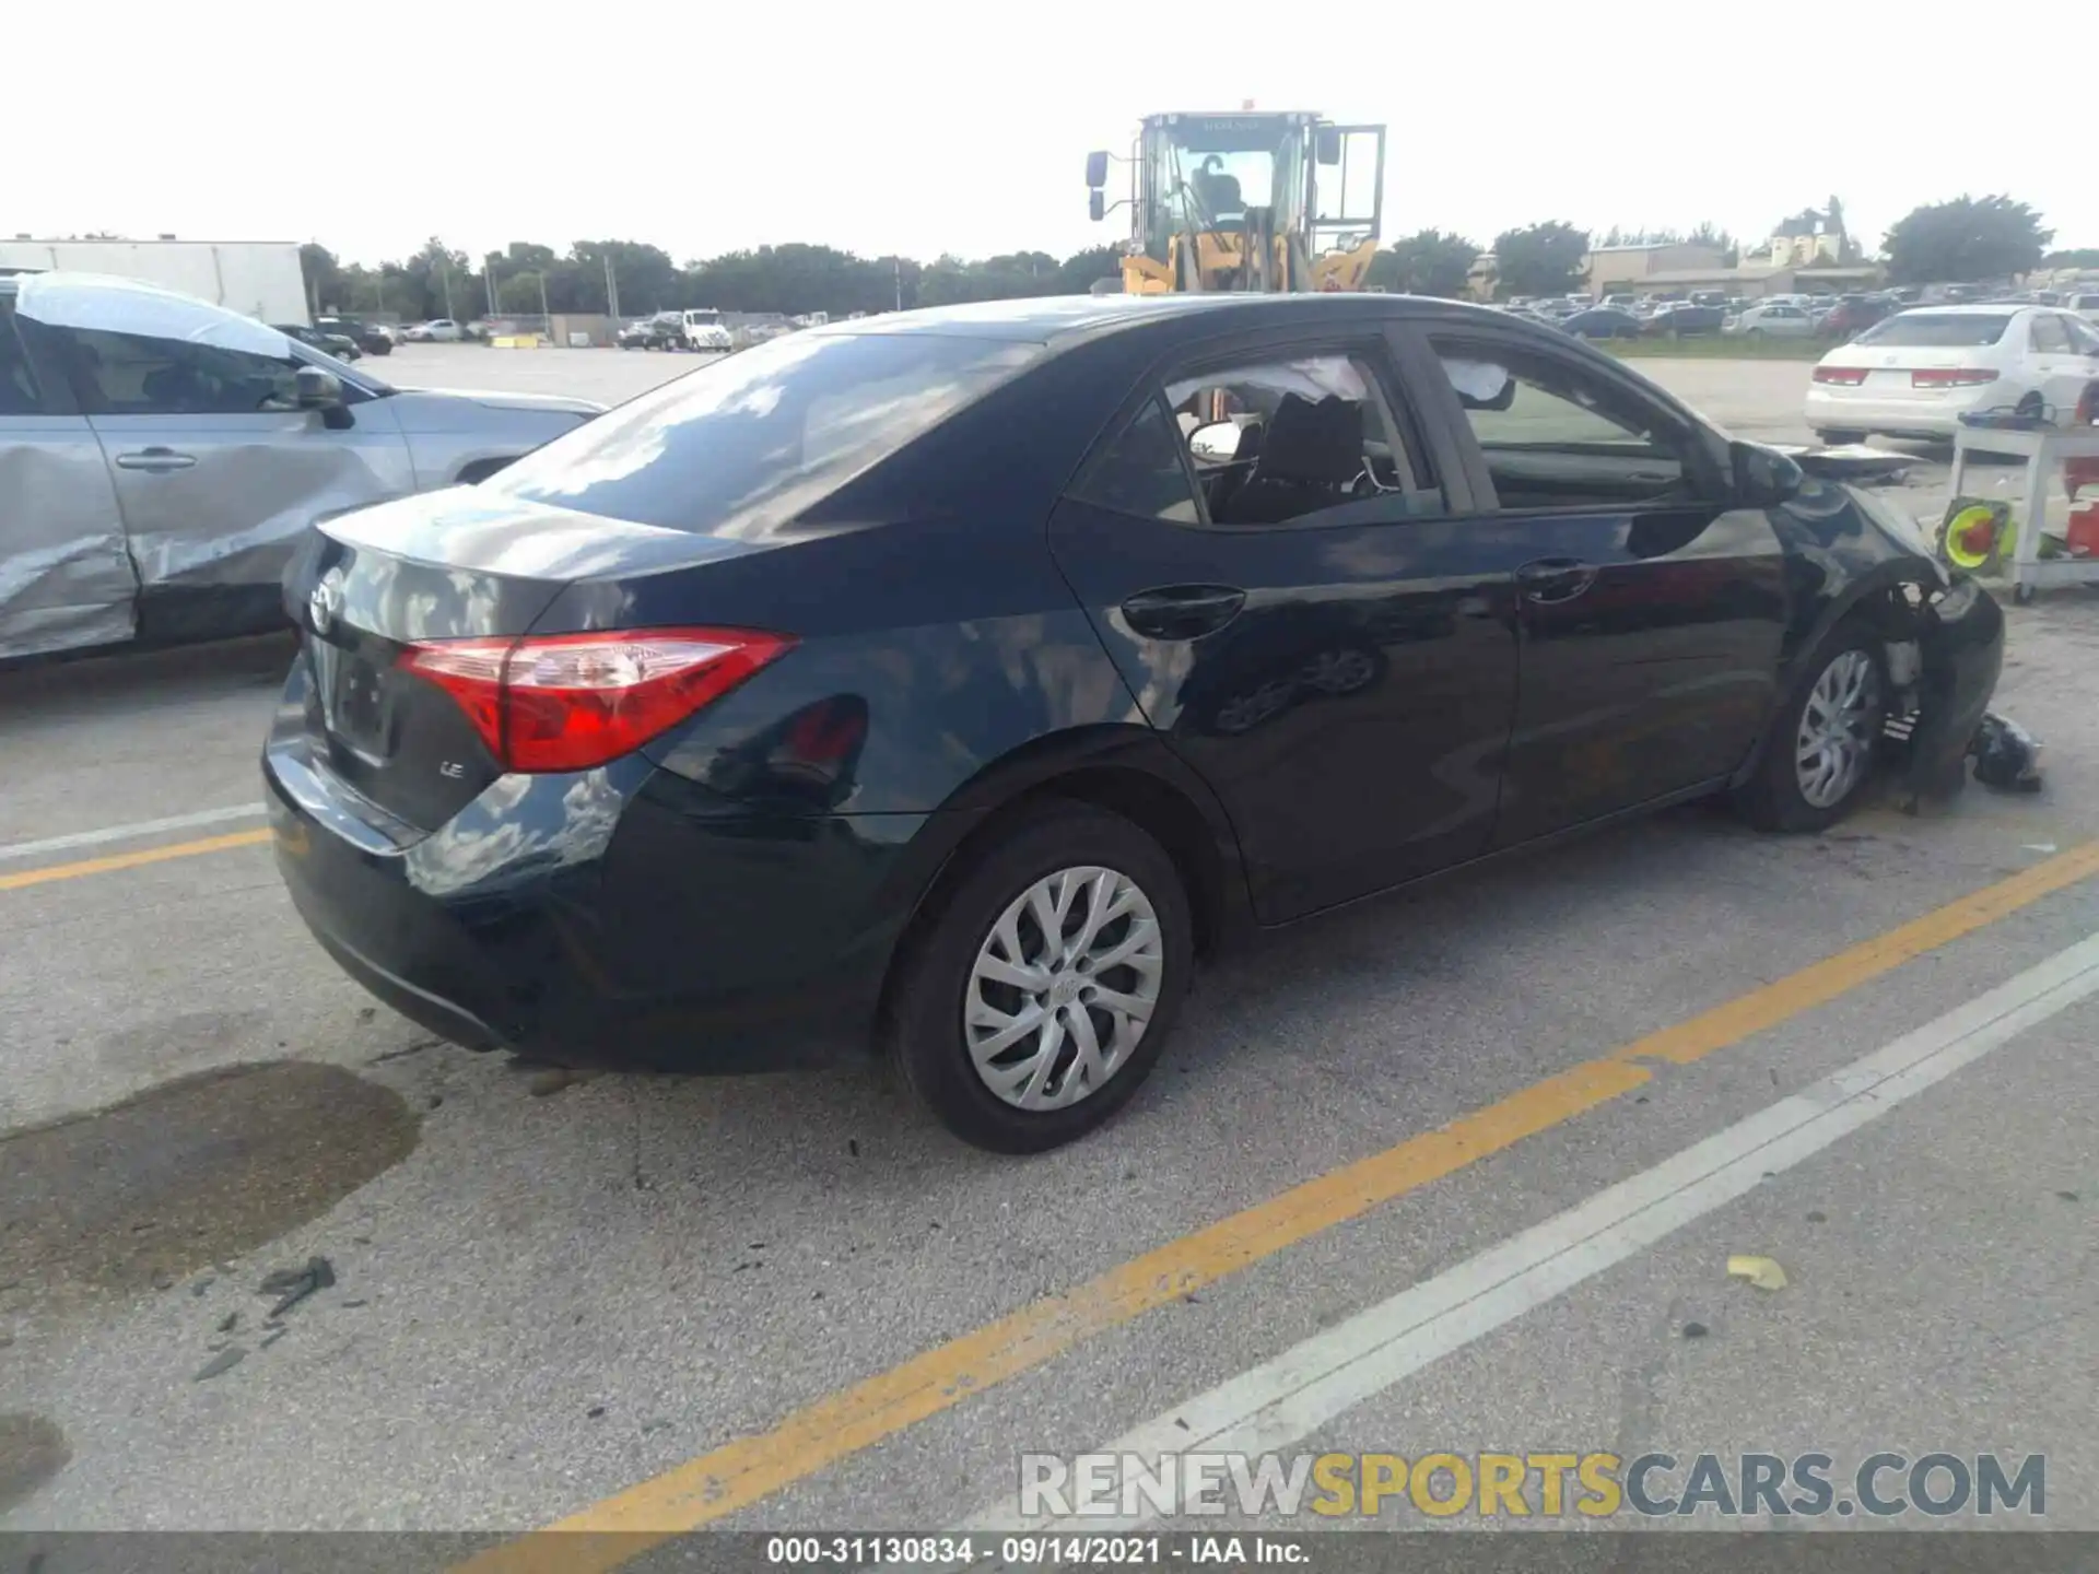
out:
M48 332L115 478L143 634L269 625L315 516L416 489L399 422L355 382L344 382L340 409L298 407L306 361L260 323L229 327L216 311L191 329L174 317L124 321L141 332Z

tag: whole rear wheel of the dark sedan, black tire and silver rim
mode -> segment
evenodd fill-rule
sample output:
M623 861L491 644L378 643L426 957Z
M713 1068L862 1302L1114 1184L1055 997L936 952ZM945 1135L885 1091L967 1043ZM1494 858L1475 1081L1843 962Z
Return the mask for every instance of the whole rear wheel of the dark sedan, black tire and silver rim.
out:
M1100 894L1110 917L1094 923ZM1119 814L1050 802L934 902L898 961L886 1022L911 1091L991 1152L1045 1152L1106 1123L1157 1064L1194 970L1173 860ZM1005 1022L1039 1026L999 1043Z

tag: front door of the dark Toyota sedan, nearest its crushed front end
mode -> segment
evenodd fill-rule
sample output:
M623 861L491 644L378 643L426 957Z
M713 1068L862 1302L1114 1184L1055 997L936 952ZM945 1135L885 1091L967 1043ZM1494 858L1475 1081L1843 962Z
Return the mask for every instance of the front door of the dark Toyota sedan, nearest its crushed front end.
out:
M1429 346L1471 437L1480 523L1522 541L1494 846L1727 777L1776 697L1786 586L1769 516L1732 497L1725 443L1593 355L1492 329Z

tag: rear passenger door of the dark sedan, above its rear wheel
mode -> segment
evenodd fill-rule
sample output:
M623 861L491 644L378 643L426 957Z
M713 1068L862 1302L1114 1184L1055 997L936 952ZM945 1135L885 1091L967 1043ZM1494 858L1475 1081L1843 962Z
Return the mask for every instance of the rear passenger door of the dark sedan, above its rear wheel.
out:
M1224 802L1282 921L1486 850L1520 533L1459 518L1457 445L1377 327L1159 367L1050 520L1136 705Z

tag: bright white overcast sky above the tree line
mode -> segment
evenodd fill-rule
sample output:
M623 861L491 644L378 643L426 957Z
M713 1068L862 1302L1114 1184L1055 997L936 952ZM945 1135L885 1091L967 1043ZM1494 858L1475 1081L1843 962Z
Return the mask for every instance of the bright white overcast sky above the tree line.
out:
M2007 191L2057 246L2099 246L2095 151L2068 109L2086 57L2055 86L2038 44L2032 69L1977 78L1897 13L31 4L6 27L8 124L27 130L0 233L319 239L363 262L428 235L476 256L579 237L680 262L768 241L1062 256L1125 233L1085 218L1089 147L1253 99L1390 124L1387 239L1486 243L1543 218L1761 237L1837 193L1877 243L1921 201ZM2021 82L2032 134L2002 113L1977 130L1973 94Z

